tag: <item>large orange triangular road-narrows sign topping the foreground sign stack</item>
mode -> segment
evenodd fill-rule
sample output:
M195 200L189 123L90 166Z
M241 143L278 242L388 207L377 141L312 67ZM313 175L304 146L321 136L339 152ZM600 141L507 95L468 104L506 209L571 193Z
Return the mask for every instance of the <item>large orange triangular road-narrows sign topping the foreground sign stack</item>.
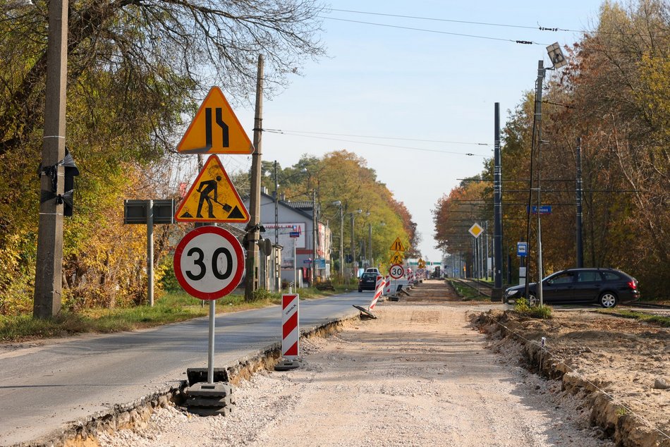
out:
M219 87L212 87L177 146L187 154L251 154L254 147Z

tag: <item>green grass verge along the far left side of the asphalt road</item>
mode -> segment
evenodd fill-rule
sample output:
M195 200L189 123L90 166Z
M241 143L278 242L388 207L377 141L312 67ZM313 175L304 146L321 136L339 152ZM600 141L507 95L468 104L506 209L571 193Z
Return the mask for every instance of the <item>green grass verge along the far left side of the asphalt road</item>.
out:
M300 298L321 298L342 293L337 291L302 288ZM257 300L248 302L242 295L227 295L217 300L217 314L257 309L281 302L278 293L257 294ZM28 341L39 338L71 336L76 333L110 333L133 331L153 326L205 317L209 314L209 302L198 300L180 291L165 293L154 302L154 307L146 305L120 309L87 309L80 312L61 311L49 319L33 319L32 315L4 317L0 315L0 342Z

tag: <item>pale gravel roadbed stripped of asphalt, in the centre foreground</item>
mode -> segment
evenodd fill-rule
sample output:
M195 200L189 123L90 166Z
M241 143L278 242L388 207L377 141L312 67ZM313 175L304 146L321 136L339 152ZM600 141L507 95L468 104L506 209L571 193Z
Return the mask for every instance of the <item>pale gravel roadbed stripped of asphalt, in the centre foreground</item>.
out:
M379 319L301 341L304 364L235 390L228 417L157 410L120 446L611 446L578 396L486 348L462 303L389 303Z

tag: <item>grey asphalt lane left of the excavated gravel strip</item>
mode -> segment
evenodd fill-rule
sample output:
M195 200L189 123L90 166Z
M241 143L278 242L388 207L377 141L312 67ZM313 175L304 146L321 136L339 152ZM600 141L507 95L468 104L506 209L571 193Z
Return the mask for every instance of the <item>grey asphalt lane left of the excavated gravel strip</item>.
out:
M358 313L372 293L300 302L300 327ZM0 346L0 446L31 441L66 422L129 403L207 367L208 319L62 343ZM217 316L214 366L281 340L279 306Z

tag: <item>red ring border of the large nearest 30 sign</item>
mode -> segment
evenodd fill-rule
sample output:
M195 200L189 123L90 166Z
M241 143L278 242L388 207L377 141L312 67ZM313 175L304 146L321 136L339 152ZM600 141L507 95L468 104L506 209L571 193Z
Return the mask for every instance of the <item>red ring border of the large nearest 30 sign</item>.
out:
M184 251L186 245L188 245L188 243L196 236L205 233L216 233L224 239L228 240L228 242L233 245L233 250L235 250L235 255L237 255L238 259L238 268L235 272L235 275L233 276L232 281L228 286L222 288L221 290L217 290L216 292L201 292L200 290L193 288L186 281L186 278L184 278L183 272L181 271L181 254ZM242 250L242 244L240 244L240 241L237 240L233 233L228 230L224 230L224 228L221 228L220 226L199 226L186 233L177 244L177 247L174 251L173 269L174 276L176 276L179 285L186 293L195 298L199 298L200 300L218 300L219 298L222 298L235 290L235 288L239 286L240 281L242 281L242 274L244 271L244 252Z

